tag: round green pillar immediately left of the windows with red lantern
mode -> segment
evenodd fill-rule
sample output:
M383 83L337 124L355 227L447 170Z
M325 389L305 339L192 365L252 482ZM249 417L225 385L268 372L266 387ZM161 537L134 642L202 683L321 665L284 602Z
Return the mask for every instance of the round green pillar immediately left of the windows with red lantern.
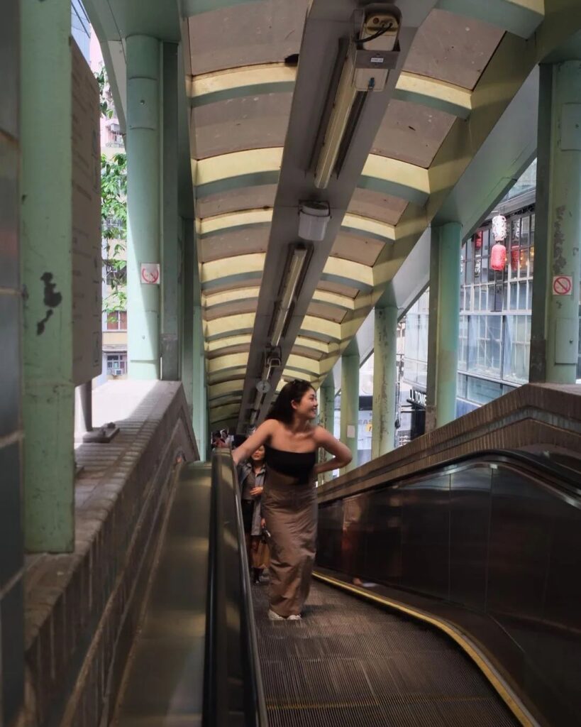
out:
M462 225L431 230L426 431L456 418Z

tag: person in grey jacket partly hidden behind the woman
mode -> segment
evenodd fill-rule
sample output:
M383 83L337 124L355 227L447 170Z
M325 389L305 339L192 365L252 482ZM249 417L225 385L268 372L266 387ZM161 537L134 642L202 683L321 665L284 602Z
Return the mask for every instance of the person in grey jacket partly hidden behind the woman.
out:
M253 451L250 459L238 467L238 484L242 499L242 520L248 567L254 583L260 583L264 568L264 543L262 536L261 496L264 491L264 447ZM261 547L263 546L263 547ZM267 546L266 546L267 547Z

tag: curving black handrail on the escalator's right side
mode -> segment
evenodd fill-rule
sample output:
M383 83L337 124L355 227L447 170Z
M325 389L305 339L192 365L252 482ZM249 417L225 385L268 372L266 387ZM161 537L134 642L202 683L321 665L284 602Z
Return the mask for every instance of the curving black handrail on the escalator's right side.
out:
M492 461L491 461L492 460ZM543 462L540 457L529 452L519 451L517 449L481 449L479 451L471 452L468 454L460 454L456 457L450 457L450 459L443 459L442 462L435 462L432 465L426 465L420 467L412 473L405 475L396 475L390 480L378 483L371 486L370 488L362 487L362 489L355 492L344 493L341 490L346 487L352 487L356 483L364 483L365 480L375 479L381 475L389 477L390 473L397 469L397 462L388 465L384 468L378 468L372 472L366 473L365 475L359 475L352 478L350 481L339 483L337 490L333 489L333 480L329 481L331 489L322 491L322 497L325 497L325 504L336 499L343 499L344 497L353 497L359 492L364 492L367 489L376 489L378 487L389 487L395 486L405 481L415 480L418 478L425 477L431 473L445 474L446 470L460 467L466 463L476 464L477 462L490 462L491 464L508 464L508 465L525 465L532 472L527 471L529 477L537 480L543 480L543 482L554 489L561 491L566 497L575 497L581 499L581 471L577 475L574 470L570 467L564 467L558 462ZM581 470L581 461L580 461ZM540 476L542 475L542 476Z

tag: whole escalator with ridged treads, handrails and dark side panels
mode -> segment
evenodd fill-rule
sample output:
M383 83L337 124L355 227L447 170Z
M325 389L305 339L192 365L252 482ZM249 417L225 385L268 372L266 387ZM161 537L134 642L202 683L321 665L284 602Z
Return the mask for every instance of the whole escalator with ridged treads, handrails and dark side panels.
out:
M229 452L184 467L113 723L581 724L576 460L376 482L320 503L303 619L269 622Z

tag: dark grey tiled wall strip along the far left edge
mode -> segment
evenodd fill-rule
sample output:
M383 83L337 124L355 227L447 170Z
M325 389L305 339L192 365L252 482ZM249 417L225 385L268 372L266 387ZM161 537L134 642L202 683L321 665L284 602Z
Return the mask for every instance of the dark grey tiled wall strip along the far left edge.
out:
M0 727L23 702L23 527L21 513L18 0L0 22Z

